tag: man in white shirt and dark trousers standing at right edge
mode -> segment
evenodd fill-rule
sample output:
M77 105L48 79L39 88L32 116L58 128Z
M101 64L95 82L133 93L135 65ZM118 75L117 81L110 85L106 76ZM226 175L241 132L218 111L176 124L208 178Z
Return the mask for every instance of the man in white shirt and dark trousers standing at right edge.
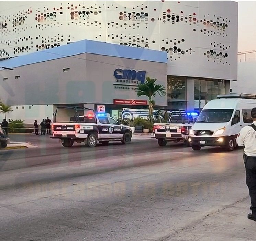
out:
M256 107L251 111L253 123L241 129L237 136L237 144L244 146L244 164L246 172L246 185L251 198L251 211L248 219L256 221Z

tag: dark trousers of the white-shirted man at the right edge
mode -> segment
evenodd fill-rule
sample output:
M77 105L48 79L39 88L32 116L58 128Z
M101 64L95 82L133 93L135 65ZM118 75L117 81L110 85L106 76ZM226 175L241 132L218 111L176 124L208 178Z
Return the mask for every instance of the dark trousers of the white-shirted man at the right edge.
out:
M253 216L256 217L256 157L245 156L246 185L249 189Z

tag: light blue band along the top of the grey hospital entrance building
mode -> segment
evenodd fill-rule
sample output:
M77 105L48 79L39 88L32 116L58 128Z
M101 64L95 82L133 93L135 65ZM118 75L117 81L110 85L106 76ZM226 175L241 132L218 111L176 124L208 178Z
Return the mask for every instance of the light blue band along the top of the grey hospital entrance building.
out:
M3 60L0 61L0 66L15 68L82 53L167 63L167 53L164 51L129 47L100 41L81 40L75 43Z

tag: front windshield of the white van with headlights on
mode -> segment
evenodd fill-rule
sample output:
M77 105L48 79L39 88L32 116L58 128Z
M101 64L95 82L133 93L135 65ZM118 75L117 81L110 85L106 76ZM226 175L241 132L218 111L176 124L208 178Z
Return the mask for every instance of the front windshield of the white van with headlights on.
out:
M229 122L233 109L205 109L202 110L196 122L222 123Z

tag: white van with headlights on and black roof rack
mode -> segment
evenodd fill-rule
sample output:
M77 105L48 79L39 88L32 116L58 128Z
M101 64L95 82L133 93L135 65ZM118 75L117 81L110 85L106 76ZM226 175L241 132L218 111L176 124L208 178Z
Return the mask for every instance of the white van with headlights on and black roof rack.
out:
M244 126L252 124L251 110L256 107L256 95L218 95L201 111L189 132L193 150L203 146L223 146L232 151L236 137Z

